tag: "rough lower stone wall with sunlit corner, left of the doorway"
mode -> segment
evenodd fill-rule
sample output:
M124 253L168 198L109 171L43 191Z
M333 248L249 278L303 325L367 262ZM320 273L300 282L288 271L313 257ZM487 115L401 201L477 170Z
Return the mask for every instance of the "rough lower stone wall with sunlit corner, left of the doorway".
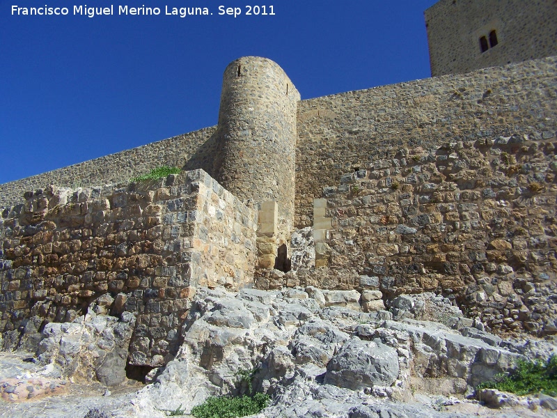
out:
M253 281L256 215L202 170L25 197L0 219L0 330L12 346L29 318L130 311L130 363L159 366L196 287Z

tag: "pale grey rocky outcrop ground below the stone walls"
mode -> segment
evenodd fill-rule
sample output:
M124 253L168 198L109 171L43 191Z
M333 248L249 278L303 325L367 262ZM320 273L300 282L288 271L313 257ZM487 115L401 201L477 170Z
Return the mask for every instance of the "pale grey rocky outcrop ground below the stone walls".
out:
M388 304L378 291L201 289L178 354L144 386L115 385L123 371L111 353L134 319L90 311L45 327L36 353L1 353L0 417L164 417L246 392L245 376L271 396L260 418L556 416L548 396L473 394L519 358L557 353L553 341L503 340L433 294Z

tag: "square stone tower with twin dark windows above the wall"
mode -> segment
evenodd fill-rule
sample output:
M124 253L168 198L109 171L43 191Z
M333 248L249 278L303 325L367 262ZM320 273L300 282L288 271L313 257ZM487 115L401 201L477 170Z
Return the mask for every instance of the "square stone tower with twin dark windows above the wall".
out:
M553 0L441 0L425 10L425 26L434 77L557 55Z

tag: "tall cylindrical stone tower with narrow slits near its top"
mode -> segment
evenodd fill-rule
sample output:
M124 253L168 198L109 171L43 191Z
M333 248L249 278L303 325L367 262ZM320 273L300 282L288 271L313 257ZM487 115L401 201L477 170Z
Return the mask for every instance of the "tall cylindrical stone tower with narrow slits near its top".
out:
M277 238L294 225L296 108L300 95L278 64L244 56L223 75L214 173L228 191L260 209L278 204Z

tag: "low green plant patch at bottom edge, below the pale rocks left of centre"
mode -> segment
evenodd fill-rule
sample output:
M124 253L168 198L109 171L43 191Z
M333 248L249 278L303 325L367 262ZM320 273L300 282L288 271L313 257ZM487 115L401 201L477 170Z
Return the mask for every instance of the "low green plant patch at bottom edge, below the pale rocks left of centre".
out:
M236 418L258 414L267 407L269 395L257 393L251 396L211 396L191 410L196 418Z

